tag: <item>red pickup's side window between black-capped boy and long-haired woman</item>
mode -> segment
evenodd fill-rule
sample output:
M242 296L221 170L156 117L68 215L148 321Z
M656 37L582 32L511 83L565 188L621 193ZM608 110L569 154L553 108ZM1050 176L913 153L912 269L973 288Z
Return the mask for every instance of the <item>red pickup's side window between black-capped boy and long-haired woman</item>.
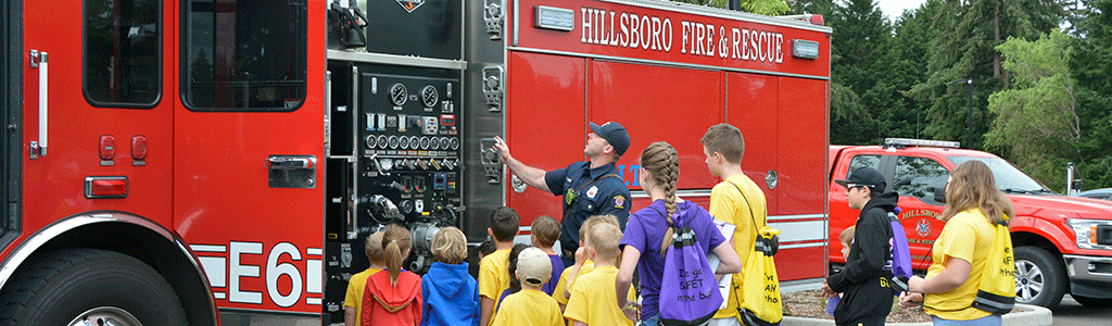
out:
M901 156L896 159L893 190L901 197L915 197L925 204L943 205L934 200L934 189L944 187L950 171L930 158Z

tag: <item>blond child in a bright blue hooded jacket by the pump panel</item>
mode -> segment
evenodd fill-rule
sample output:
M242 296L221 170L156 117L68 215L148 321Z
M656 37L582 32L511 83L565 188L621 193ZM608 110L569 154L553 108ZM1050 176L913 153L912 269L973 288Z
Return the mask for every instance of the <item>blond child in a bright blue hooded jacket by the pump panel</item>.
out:
M425 307L420 325L478 325L478 283L467 273L467 238L448 227L433 237L436 263L421 278Z

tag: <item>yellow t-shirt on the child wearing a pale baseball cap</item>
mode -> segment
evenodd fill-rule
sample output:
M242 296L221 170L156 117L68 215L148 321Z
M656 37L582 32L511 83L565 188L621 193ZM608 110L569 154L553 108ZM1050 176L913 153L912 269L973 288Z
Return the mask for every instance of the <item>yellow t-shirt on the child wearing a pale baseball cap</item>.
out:
M498 314L490 318L495 326L563 326L564 316L559 305L550 296L536 288L523 288L506 296Z

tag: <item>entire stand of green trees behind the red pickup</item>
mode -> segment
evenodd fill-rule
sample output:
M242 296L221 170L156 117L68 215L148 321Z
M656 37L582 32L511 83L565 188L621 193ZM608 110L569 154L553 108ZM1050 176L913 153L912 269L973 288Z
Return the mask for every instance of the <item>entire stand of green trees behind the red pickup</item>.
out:
M831 144L956 140L1056 190L1066 162L1085 188L1112 186L1112 0L927 0L893 23L863 0L791 1L790 13L834 29ZM972 115L954 82L965 78Z

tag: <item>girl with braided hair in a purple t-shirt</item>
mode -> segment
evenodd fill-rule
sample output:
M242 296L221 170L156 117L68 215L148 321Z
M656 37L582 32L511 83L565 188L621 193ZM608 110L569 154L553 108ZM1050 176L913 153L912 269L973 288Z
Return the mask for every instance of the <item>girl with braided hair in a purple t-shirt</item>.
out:
M664 254L672 243L673 226L677 219L695 231L698 245L706 253L722 258L716 275L734 274L742 270L742 261L714 225L711 214L676 197L676 181L679 180L679 155L664 141L649 145L641 154L641 187L653 204L629 215L625 234L622 236L622 264L615 280L618 306L626 317L642 325L659 324L661 278L664 276ZM636 314L636 304L626 299L633 281L634 269L639 270L642 312Z

